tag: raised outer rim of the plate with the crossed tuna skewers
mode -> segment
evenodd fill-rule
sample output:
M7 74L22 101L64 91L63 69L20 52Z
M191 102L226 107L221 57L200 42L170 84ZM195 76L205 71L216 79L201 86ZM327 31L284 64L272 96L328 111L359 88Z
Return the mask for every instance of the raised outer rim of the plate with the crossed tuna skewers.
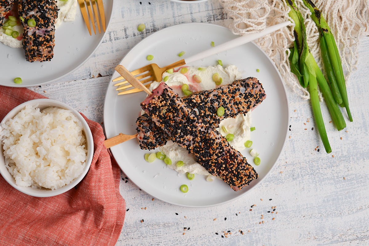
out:
M166 27L166 28L163 28L163 29L161 29L161 30L159 30L159 31L157 31L157 32L155 32L155 33L153 33L153 34L151 34L150 36L148 36L148 37L146 37L146 38L144 38L144 39L142 39L140 42L138 42L125 56L124 56L124 58L120 61L120 63L119 64L122 64L122 65L124 65L124 66L128 66L127 64L125 64L125 60L127 59L127 57L129 57L130 55L132 55L132 53L134 53L135 52L135 48L137 48L137 47L139 47L143 42L145 42L148 38L154 38L154 36L157 36L157 35L160 35L160 34L163 34L163 32L166 32L166 31L169 31L169 30L171 30L171 29L177 29L177 28L182 28L183 26L186 26L186 25L189 25L189 26L192 26L192 25L203 25L203 26L205 26L205 25L208 25L208 26L213 26L213 27L217 27L217 28L222 28L222 29L227 29L227 30L229 30L228 28L225 28L225 27L223 27L223 26L220 26L220 25L216 25L216 24L210 24L210 23L197 23L197 22L192 22L192 23L185 23L185 24L179 24L179 25L174 25L174 26L170 26L170 27ZM204 28L205 29L205 28ZM158 196L155 196L154 194L151 194L149 191L147 191L146 189L144 189L143 187L141 187L137 182L134 182L134 184L136 185L136 186L138 186L139 187L139 189L141 189L141 190L144 190L146 193L148 193L148 194L150 194L150 195L152 195L152 196L154 196L155 198L158 198L159 200L162 200L162 201L165 201L165 202L167 202L167 203L170 203L170 204L173 204L173 205L178 205L178 206L182 206L182 207L193 207L193 208L203 208L203 207L213 207L213 206L217 206L217 205L222 205L222 204L226 204L226 203L229 203L229 202L231 202L231 201L234 201L234 200L237 200L237 199L239 199L239 198L241 198L241 197L243 197L243 196L245 196L245 194L246 193L249 193L249 191L251 191L252 189L254 189L256 186L258 186L268 175L269 175L269 173L273 170L273 168L275 167L275 165L276 165L276 162L279 160L279 158L280 158L280 155L282 154L282 151L283 151L283 149L284 149L284 146L285 146L285 144L286 144L286 141L287 141L287 134L288 134L288 124L289 124L289 117L290 117L290 113L289 113L289 103L288 103L288 98L287 98L287 93L286 93L286 87L285 87L285 85L284 85L284 81L283 81L283 78L282 78L282 76L280 75L280 73L279 73L279 71L278 71L278 69L277 69L277 67L275 66L275 64L274 64L274 62L270 59L270 57L268 56L268 55L266 55L266 53L258 46L258 45L256 45L254 42L250 42L250 43L252 43L254 46L255 46L255 48L257 49L257 50L259 50L259 52L261 52L261 53L263 53L263 55L265 56L265 58L266 59L268 59L269 60L269 62L270 62L270 65L272 65L272 67L273 67L273 69L275 70L275 72L276 72L276 74L277 74L277 76L278 76L278 78L279 78L279 80L280 80L280 86L282 86L282 89L283 89L283 92L284 92L284 98L286 99L285 101L286 101L286 105L284 105L284 106L286 106L286 108L285 108L285 112L284 113L286 113L286 116L284 117L284 119L286 119L287 120L287 122L286 122L286 126L285 126L285 128L284 128L284 131L283 131L283 135L284 135L284 139L283 139L283 144L280 146L280 151L279 151L279 154L277 155L277 157L275 158L275 161L274 161L274 163L273 163L273 165L271 166L271 168L268 170L268 172L266 172L265 173L265 175L262 177L262 178L259 178L258 179L258 181L257 181L257 183L255 184L255 185L253 185L250 189L247 189L244 193L242 193L242 194L240 194L239 196L237 196L237 197L234 197L234 198L232 198L232 199L229 199L229 200L226 200L226 201L222 201L222 202L219 202L219 203L214 203L214 204L206 204L206 205L189 205L189 204L181 204L181 203L176 203L176 202L173 202L173 201L169 201L169 200L167 200L167 199L164 199L164 198L162 198L162 197L158 197ZM142 66L144 66L144 65L142 65ZM117 74L117 72L114 72L113 73L113 75L112 75L112 77L111 77L111 80L110 80L110 83L108 84L108 87L110 86L110 85L112 85L114 82L112 82L112 80L113 80L113 78L115 78L115 77L118 77L118 74ZM108 135L108 131L109 131L109 129L108 129L108 127L107 127L107 124L106 124L106 122L107 122L107 111L108 110L110 110L109 109L109 106L107 105L107 101L110 99L109 98L109 90L107 89L107 91L106 91L106 96L105 96L105 101L104 101L104 130L106 131L106 134L107 134L107 137L109 138L109 137L113 137L113 136L115 136L115 135L117 135L117 134L119 134L118 132L117 133L115 133L114 135ZM268 96L268 94L267 94L267 96ZM114 147L113 148L111 148L111 153L113 154L113 157L115 157L116 156L116 151L114 150ZM121 168L121 170L124 172L124 169L125 169L125 164L122 164L122 163L120 163L120 160L118 160L118 159L116 159L116 161L117 161L117 164L118 164L118 166L120 166L120 168ZM127 177L128 177L128 179L130 179L130 177L127 175ZM244 188L245 189L245 188Z

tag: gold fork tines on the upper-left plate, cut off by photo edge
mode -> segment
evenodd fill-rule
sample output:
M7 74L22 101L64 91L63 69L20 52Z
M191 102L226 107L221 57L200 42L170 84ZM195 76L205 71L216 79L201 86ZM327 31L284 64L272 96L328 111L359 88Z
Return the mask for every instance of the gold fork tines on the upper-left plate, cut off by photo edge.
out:
M97 7L99 8L99 11L97 11L96 2L97 2ZM104 14L103 0L78 0L78 3L81 9L83 20L85 20L86 22L86 26L87 26L87 29L89 30L90 35L92 35L92 33L91 33L89 17L91 19L93 32L96 34L96 28L95 28L95 20L96 20L97 29L99 30L99 33L101 33L99 13L100 13L100 19L101 19L101 26L103 27L103 31L105 32L106 26L105 26L105 14ZM93 13L92 13L91 4L93 8ZM88 11L88 15L87 15L87 11Z

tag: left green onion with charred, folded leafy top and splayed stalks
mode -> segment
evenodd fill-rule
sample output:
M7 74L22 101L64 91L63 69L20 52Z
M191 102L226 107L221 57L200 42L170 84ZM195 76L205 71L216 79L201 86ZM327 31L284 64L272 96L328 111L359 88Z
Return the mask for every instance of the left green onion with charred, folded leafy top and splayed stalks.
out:
M328 109L330 110L330 114L332 116L332 120L334 121L337 129L344 129L346 127L346 122L342 116L338 104L336 103L332 95L327 80L325 80L323 73L318 67L313 55L310 53L309 47L307 45L306 29L303 22L303 17L293 0L286 0L286 2L290 6L289 16L295 22L293 32L295 41L293 48L290 49L291 53L289 56L291 71L297 76L300 84L304 88L309 86L311 107L313 109L318 132L323 142L325 151L327 153L330 153L332 150L327 137L327 131L325 130L323 116L321 113L320 101L318 96L318 85L327 103Z

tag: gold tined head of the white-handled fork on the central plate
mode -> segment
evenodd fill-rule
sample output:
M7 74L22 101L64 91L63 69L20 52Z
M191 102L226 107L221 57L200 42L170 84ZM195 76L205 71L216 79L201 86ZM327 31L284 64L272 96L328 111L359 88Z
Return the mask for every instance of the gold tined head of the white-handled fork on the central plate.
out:
M184 64L186 64L186 62L183 59L180 61L176 61L175 63L172 63L166 67L159 67L157 64L151 63L147 66L144 66L144 67L138 68L137 70L132 71L131 74L135 76L136 79L139 80L142 84L144 84L146 88L148 88L153 81L158 81L158 82L162 81L162 76L165 71L168 71L169 69L172 69L175 67L182 66ZM132 85L129 84L123 76L115 78L113 81L115 82L119 80L124 80L124 81L119 82L114 85L114 86L120 86L116 88L117 91L132 87ZM139 91L142 91L142 90L135 88L135 89L130 89L127 91L119 92L118 95L124 95L124 94L133 93L133 92L139 92Z

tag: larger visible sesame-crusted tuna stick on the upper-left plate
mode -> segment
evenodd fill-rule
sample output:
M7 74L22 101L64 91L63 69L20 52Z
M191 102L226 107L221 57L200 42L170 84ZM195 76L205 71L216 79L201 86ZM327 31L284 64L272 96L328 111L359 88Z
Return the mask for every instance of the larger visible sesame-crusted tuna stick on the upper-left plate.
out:
M27 61L49 61L54 56L55 20L58 6L55 0L20 0L18 14L24 28L23 49ZM35 27L28 20L36 21Z

